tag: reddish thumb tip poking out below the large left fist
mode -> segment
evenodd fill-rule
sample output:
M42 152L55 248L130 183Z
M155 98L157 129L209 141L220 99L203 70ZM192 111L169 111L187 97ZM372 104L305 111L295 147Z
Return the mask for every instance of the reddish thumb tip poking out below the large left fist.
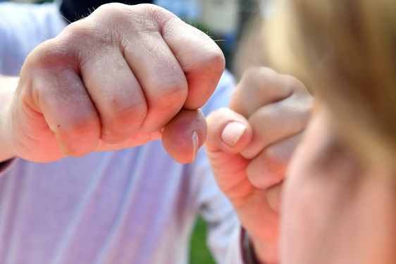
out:
M162 144L179 163L191 163L206 140L206 120L201 110L182 109L162 132Z

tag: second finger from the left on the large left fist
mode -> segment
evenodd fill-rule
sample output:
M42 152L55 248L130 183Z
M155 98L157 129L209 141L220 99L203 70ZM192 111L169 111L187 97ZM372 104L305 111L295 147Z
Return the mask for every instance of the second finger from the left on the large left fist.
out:
M123 55L106 46L82 65L82 80L100 116L101 140L116 144L129 139L140 130L147 104Z

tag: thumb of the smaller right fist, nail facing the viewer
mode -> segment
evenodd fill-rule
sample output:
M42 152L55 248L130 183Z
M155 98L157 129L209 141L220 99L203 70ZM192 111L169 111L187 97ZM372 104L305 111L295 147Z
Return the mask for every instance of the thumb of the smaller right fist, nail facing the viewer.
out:
M228 108L212 112L206 118L208 139L206 148L220 149L228 153L239 153L252 139L252 127L242 115Z

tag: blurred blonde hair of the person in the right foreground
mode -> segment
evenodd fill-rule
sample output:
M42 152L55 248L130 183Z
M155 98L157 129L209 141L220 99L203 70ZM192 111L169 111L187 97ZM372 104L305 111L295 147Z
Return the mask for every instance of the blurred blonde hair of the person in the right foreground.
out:
M277 0L268 58L325 101L366 157L396 165L396 1Z

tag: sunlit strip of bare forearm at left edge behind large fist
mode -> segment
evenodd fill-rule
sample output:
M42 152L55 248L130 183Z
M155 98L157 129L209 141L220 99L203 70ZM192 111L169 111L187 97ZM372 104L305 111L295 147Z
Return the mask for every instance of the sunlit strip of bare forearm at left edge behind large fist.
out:
M13 158L10 111L18 77L0 77L0 163Z

